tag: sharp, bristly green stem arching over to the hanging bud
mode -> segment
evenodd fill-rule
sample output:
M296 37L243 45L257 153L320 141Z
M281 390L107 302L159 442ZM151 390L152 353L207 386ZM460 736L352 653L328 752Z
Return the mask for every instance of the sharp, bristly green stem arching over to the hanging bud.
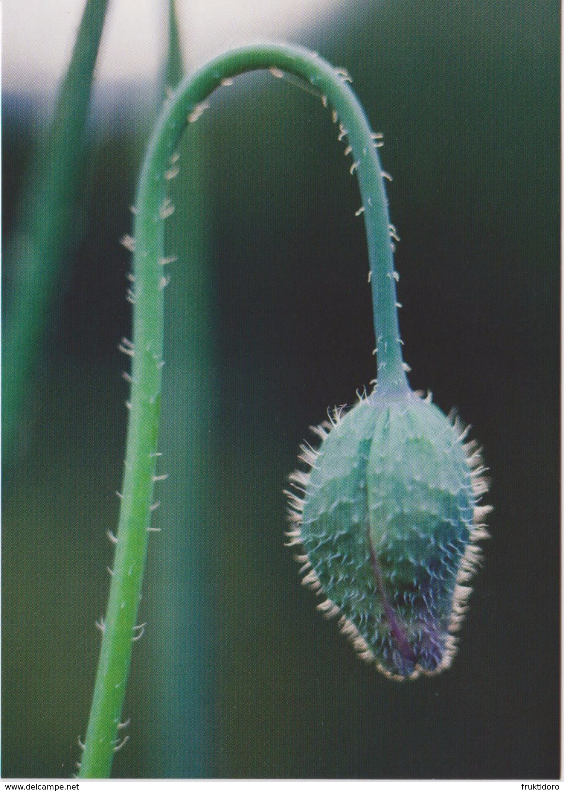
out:
M388 203L380 161L365 113L346 84L346 74L301 48L277 44L243 47L219 56L186 78L165 105L154 131L138 184L134 221L134 320L131 415L123 501L108 612L100 652L81 778L108 777L116 747L142 576L157 456L157 429L163 366L163 222L170 206L166 185L176 169L176 145L188 123L196 123L206 99L221 83L247 71L275 69L293 74L320 93L335 112L341 133L351 146L364 205L372 272L375 331L378 346L378 388L405 392L396 310L396 278L389 237Z

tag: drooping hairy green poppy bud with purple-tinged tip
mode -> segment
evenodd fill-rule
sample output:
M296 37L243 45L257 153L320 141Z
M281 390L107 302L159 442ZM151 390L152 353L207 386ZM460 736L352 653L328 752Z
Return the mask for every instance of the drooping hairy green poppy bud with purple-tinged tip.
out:
M304 584L362 659L393 679L449 667L490 506L475 441L430 399L375 391L315 430L290 476Z

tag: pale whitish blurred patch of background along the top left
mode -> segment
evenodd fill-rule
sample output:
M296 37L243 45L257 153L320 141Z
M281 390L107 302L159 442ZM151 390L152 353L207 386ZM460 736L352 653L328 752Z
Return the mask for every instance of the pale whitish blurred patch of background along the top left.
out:
M347 0L177 0L187 65L228 47L290 39ZM54 86L74 43L85 0L3 0L2 85L13 91ZM153 79L165 46L168 0L110 0L98 81Z

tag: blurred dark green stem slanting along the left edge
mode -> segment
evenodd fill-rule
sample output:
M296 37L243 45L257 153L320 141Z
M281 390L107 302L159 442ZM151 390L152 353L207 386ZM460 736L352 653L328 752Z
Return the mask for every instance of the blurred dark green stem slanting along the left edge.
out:
M32 159L17 229L6 251L13 278L3 315L2 460L17 455L48 317L66 282L77 200L84 181L85 131L108 0L87 0L51 127ZM5 467L6 470L6 467Z

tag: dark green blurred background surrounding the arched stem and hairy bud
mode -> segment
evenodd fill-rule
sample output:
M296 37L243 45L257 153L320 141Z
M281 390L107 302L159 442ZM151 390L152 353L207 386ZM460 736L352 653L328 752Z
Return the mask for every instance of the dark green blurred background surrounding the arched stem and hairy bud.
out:
M374 377L358 188L331 114L255 75L214 95L197 144L187 134L170 478L116 777L558 777L559 25L555 0L351 2L295 37L346 66L385 134L411 384L459 407L491 469L486 563L460 652L434 679L393 683L355 659L282 546L307 427ZM150 115L134 110L146 86L120 90L120 112L97 98L74 256L4 476L5 777L73 771L97 664L126 428L118 240ZM33 108L3 96L5 242ZM2 283L6 304L6 267Z

